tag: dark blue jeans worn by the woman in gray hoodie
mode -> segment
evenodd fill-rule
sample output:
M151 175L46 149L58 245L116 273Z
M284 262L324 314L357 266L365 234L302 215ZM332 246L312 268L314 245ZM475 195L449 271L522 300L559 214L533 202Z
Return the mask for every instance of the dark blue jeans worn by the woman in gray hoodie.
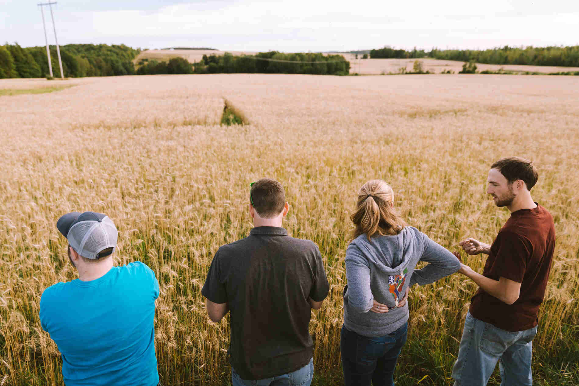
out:
M407 335L408 323L380 337L362 336L342 326L340 351L346 386L394 386L394 367Z

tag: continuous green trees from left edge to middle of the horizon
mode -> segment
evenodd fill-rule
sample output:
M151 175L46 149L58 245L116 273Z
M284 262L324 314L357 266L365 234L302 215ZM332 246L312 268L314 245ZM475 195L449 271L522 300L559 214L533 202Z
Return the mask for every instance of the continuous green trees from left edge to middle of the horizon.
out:
M174 73L310 73L347 75L350 63L341 55L321 53L285 54L276 51L252 56L203 56L190 64L184 58L167 61L143 59L136 68L133 60L141 52L125 45L69 44L60 46L64 76L149 75ZM60 77L56 46L50 46L52 72ZM309 63L313 62L313 63ZM49 78L46 47L0 46L0 78Z

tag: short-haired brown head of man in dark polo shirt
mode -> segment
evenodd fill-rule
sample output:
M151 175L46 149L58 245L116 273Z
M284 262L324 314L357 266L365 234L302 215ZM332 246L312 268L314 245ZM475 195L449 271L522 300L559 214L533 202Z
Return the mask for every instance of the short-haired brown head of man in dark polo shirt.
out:
M285 206L284 187L274 179L262 178L251 187L250 202L260 217L275 217Z

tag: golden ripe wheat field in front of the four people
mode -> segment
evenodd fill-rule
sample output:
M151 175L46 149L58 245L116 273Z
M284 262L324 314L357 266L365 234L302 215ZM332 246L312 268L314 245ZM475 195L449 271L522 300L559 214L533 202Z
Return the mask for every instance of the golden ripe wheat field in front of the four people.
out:
M557 233L533 345L535 384L579 385L577 77L220 74L64 82L72 87L0 96L0 385L62 384L39 300L47 286L77 277L56 220L85 210L116 223L116 264L141 260L156 273L162 384L228 384L229 317L211 322L200 290L219 245L251 229L249 184L261 177L284 185L290 234L320 247L331 290L312 312L314 384L343 384L344 258L360 186L389 182L406 222L456 250L465 237L492 242L508 218L485 190L490 164L511 155L536 164L533 198L551 212ZM0 89L45 84L1 80ZM219 124L224 99L248 124ZM482 271L484 258L464 259ZM476 290L458 274L412 289L398 385L452 385ZM497 373L489 384L500 383Z

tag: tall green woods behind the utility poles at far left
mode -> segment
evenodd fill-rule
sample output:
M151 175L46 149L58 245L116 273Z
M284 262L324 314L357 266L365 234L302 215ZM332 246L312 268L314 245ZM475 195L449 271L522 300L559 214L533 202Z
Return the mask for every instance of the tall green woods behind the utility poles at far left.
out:
M140 53L125 45L69 44L60 46L66 77L134 75L133 59ZM60 76L56 46L50 46L52 72ZM0 78L43 78L50 76L46 46L0 46Z

